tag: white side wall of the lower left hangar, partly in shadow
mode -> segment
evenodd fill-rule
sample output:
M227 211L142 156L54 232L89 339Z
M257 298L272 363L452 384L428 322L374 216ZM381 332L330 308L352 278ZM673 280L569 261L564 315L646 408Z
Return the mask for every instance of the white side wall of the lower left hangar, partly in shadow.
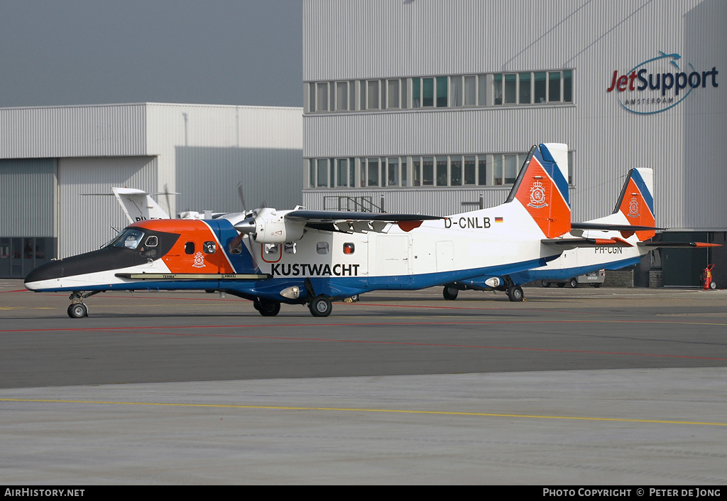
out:
M150 104L149 150L159 154L158 186L179 192L181 210L241 210L301 202L302 109Z

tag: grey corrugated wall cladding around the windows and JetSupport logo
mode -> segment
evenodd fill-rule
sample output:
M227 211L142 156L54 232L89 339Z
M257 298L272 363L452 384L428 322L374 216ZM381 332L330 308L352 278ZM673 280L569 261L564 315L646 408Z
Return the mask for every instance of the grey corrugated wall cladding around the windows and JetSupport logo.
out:
M572 68L574 106L310 114L304 157L523 151L565 142L574 150L574 218L610 213L628 168L654 167L657 224L726 229L725 85L695 89L682 104L649 115L622 109L616 93L606 92L614 71L627 73L659 51L679 53L685 71L716 68L719 82L727 71L726 17L727 4L710 0L306 0L305 82ZM406 193L412 203L434 204L409 210L449 203L434 192ZM315 198L305 194L308 205Z

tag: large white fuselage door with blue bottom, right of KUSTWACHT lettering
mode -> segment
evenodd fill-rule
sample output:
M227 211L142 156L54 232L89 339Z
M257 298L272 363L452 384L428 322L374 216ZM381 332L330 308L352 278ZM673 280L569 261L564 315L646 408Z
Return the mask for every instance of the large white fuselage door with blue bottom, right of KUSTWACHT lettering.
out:
M369 233L369 283L411 283L409 238L409 235Z

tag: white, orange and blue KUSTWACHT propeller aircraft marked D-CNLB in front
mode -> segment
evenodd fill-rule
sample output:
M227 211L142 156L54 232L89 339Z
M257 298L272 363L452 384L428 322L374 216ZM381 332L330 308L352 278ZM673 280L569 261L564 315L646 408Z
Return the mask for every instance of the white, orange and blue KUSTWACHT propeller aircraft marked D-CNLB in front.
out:
M87 316L95 293L180 289L251 299L264 316L288 303L325 317L360 293L514 275L569 248L623 245L569 234L567 165L565 144L533 146L505 203L448 217L299 207L145 219L100 250L34 269L25 287L71 292L71 317Z

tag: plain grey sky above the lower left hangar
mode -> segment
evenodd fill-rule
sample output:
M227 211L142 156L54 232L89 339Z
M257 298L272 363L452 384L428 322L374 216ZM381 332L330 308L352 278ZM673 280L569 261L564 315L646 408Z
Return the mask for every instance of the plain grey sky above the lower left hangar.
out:
M302 106L302 0L0 0L0 107Z

